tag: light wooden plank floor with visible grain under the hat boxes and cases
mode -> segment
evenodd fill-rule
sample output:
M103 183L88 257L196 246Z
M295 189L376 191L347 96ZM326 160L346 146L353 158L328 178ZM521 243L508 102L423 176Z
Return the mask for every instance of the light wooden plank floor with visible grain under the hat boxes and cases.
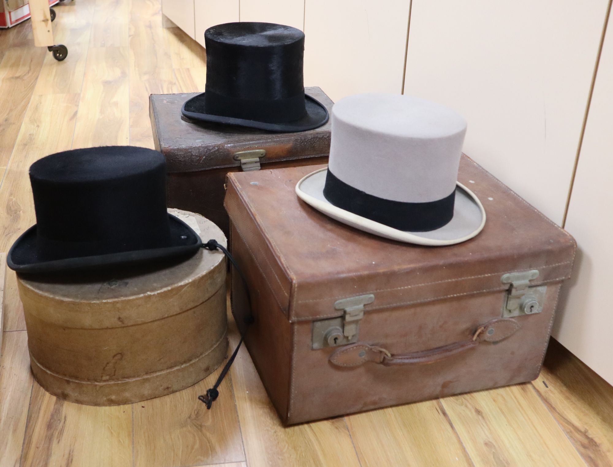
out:
M159 0L56 11L61 63L33 46L28 21L0 30L0 252L34 222L32 162L90 145L153 147L148 94L204 90L204 50L162 28ZM613 388L555 341L532 383L283 428L245 349L210 411L196 396L219 370L126 406L58 400L29 371L12 271L4 298L0 467L613 466Z

